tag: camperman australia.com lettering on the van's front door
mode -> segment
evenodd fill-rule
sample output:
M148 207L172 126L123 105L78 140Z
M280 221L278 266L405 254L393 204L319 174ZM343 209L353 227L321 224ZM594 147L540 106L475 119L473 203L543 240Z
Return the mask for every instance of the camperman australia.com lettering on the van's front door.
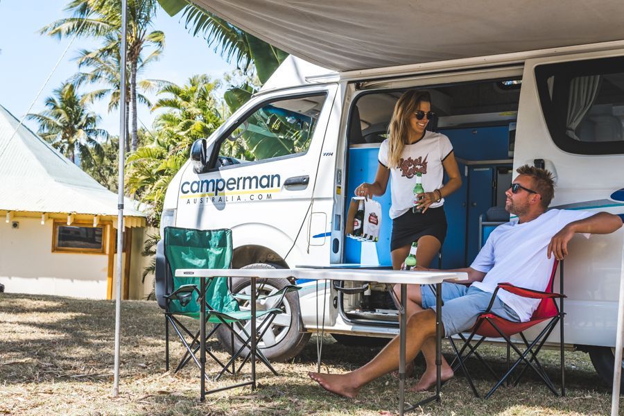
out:
M187 204L270 200L272 193L280 190L281 177L277 174L228 177L225 179L217 177L182 182L180 199L186 199Z

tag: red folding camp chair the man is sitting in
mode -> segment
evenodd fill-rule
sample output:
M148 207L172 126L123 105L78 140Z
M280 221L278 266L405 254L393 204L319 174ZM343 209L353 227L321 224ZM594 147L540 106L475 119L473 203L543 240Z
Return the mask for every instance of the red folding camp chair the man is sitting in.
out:
M561 293L564 293L563 261L560 261L559 267L560 267L560 291ZM476 342L475 345L471 345L471 342L473 341L474 336L477 335L478 330L480 329L481 325L485 321L487 321L492 326L492 328L494 328L496 332L501 336L501 338L503 338L505 342L507 343L507 367L508 367L508 371L501 377L501 379L499 379L496 385L494 385L494 387L492 387L492 389L490 389L489 392L487 392L487 394L485 395L485 399L488 399L490 396L492 396L492 394L494 394L494 392L503 384L503 382L506 382L509 385L510 376L512 372L514 372L514 370L518 367L518 365L520 365L520 363L524 363L525 365L522 368L520 374L515 379L513 383L514 386L519 383L520 379L526 372L526 369L530 367L541 378L541 380L544 381L548 389L550 389L551 392L553 392L555 396L561 395L562 397L564 397L566 395L565 354L564 354L564 315L565 315L564 297L565 295L562 295L560 293L555 293L553 291L554 273L556 272L556 269L557 269L557 264L555 263L555 266L553 267L553 276L551 277L551 281L549 282L549 286L548 286L548 289L549 289L548 292L541 292L541 291L530 291L530 292L535 293L536 297L542 300L547 299L547 298L552 299L553 304L555 305L555 308L557 310L557 313L553 315L551 318L544 318L543 320L539 321L539 322L544 322L549 319L548 324L546 324L546 327L544 327L544 329L540 331L539 335L535 337L532 343L528 343L528 340L526 339L526 336L524 336L522 331L517 332L519 336L521 337L522 342L524 344L524 347L525 347L524 352L522 352L512 342L512 340L510 339L510 336L508 336L503 330L501 330L501 328L498 325L496 325L496 322L492 320L491 309L494 304L494 300L496 300L496 293L498 293L500 288L505 288L506 284L500 284L499 286L496 287L496 289L494 290L494 293L492 294L492 299L489 301L489 305L487 306L487 310L481 315L479 315L479 318L477 318L477 322L474 325L469 337L465 338L465 336L462 333L458 334L460 338L462 338L462 340L464 341L464 345L462 346L461 349L458 350L455 340L453 340L452 337L449 337L451 347L453 347L453 351L456 354L456 358L453 360L453 363L451 363L451 367L453 367L453 371L457 371L459 368L461 368L462 372L466 375L470 388L474 392L474 395L476 397L480 397L480 396L476 390L476 387L474 386L474 380L472 379L469 371L467 370L465 366L465 361L467 358L469 358L469 356L474 354L478 358L478 360L487 368L487 370L489 370L489 372L494 376L494 378L496 379L499 378L499 376L496 375L496 372L494 372L492 367L487 362L485 362L483 357L480 356L478 352L476 352L476 349L479 347L479 345L483 343L483 341L487 339L487 336L481 336L481 338ZM527 291L527 289L523 289L523 288L519 288L519 289ZM557 305L557 302L554 302L555 299L560 300L560 305ZM535 322L535 324L539 324L539 322ZM548 374L546 374L544 367L541 366L541 364L539 363L539 360L537 359L537 354L539 354L541 347L544 346L544 343L546 343L546 339L548 339L548 336L551 335L557 323L560 323L561 393L557 392L555 385L553 385L553 382L551 381L551 379L548 378ZM512 365L510 365L510 348L513 349L514 352L516 352L516 354L518 354L518 357L519 357ZM469 349L469 352L467 352L467 354L464 355L466 349ZM529 354L530 354L530 358L528 358ZM457 364L453 366L453 364L455 364L456 361L457 361Z

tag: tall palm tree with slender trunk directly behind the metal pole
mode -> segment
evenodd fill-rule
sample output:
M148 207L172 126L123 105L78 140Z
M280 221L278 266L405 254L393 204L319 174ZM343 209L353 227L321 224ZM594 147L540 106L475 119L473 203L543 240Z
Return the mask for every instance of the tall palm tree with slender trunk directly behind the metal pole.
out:
M76 35L102 38L103 44L96 51L83 51L79 64L97 65L101 62L119 61L121 34L121 0L71 0L65 10L72 17L53 21L41 29L42 34L58 37ZM157 0L128 0L128 101L132 107L132 150L138 146L137 125L137 73L148 62L157 59L164 48L164 33L150 31L152 20L158 10ZM146 48L152 48L150 55L143 58ZM107 69L103 69L107 71ZM119 80L114 89L119 90ZM130 146L128 146L130 147Z

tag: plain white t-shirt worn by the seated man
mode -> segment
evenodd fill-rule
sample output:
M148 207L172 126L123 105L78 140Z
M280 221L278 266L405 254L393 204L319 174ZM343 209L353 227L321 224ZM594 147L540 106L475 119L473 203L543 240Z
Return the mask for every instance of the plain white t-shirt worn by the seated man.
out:
M499 283L544 291L551 277L555 257L548 259L548 244L557 232L572 223L596 214L587 211L551 209L535 220L519 224L518 220L499 225L489 234L485 245L470 265L474 270L487 273L483 281L474 286L494 293ZM589 234L585 234L589 238ZM530 320L539 299L528 299L499 290L496 294L518 314L522 322Z

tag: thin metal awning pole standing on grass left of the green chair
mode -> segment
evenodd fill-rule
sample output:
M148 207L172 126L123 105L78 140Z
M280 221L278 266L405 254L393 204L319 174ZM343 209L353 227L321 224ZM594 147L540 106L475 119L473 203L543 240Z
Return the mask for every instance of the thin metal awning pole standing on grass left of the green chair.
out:
M128 25L128 0L121 0L121 98L119 102L119 180L117 185L117 291L115 295L115 364L113 397L119 395L119 338L121 332L121 270L123 268L121 252L123 251L123 171L125 167L125 44L126 26Z

